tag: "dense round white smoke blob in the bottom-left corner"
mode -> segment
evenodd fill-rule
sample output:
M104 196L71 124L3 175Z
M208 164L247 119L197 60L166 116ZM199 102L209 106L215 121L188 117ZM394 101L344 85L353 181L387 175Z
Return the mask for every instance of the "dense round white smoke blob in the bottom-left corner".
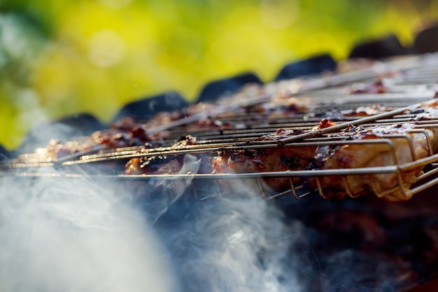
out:
M173 291L122 195L85 179L0 178L0 291Z

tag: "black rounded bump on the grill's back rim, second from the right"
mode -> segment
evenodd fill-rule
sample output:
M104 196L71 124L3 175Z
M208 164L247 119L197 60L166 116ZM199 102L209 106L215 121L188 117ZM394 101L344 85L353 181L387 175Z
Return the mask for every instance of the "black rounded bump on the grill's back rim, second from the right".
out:
M351 50L348 58L381 59L398 55L407 55L409 50L404 48L397 36L389 34L381 39L365 41Z

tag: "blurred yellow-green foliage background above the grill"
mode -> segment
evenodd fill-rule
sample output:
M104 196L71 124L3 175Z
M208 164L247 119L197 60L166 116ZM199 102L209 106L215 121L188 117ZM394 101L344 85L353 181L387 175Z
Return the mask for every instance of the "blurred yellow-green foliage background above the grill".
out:
M317 53L414 32L438 0L0 0L0 144L32 125L166 90L194 99L209 81L254 71L269 82Z

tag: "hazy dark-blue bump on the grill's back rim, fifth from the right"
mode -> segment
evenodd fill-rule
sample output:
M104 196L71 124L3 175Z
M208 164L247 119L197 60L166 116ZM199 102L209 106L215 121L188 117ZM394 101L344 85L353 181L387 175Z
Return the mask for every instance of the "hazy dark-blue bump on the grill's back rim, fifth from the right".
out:
M178 92L169 91L126 104L115 114L113 122L126 117L148 120L160 111L176 111L185 106L188 106L188 102L182 95Z

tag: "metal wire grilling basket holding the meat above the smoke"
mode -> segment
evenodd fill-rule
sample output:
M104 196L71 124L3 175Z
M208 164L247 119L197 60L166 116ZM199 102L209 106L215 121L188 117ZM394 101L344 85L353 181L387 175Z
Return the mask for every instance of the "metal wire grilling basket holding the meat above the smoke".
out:
M211 188L210 193L226 193L221 181L243 181L242 190L247 190L248 182L257 186L258 193L267 199L292 194L298 199L308 195L319 194L327 197L324 179L327 176L336 176L341 179L343 190L350 197L362 195L355 193L351 186L351 177L369 176L372 192L379 197L389 193L400 192L404 197L411 197L416 193L438 183L438 154L433 151L435 137L430 137L430 131L437 133L438 115L428 117L421 113L414 113L412 109L418 106L434 104L435 82L438 78L437 55L422 57L404 57L389 62L377 63L373 67L334 76L318 78L295 79L264 85L258 91L239 92L232 97L226 97L217 103L216 107L207 111L192 114L175 120L166 125L159 125L148 129L150 134L157 131L167 131L166 139L160 141L160 146L153 143L150 146L134 146L104 150L102 145L92 145L84 151L78 151L59 159L48 157L44 151L20 155L1 166L1 175L20 177L83 177L93 179L120 179L121 181L192 181L192 193L200 193L199 188L206 185ZM388 76L388 77L386 77ZM349 94L355 83L372 83L376 78L382 78L388 92L381 94ZM255 94L254 94L255 92ZM281 94L280 94L281 93ZM280 96L279 99L276 97ZM354 113L353 109L362 106L373 106L376 113L358 117L362 112ZM292 104L292 111L290 106ZM293 106L298 105L296 108ZM368 108L369 109L369 108ZM232 114L229 114L232 112ZM346 114L347 113L347 114ZM348 114L349 113L349 114ZM421 116L421 118L419 118ZM320 130L311 130L318 125L321 118L328 117L338 124ZM202 119L209 120L205 127L194 127ZM212 122L212 123L211 123ZM351 125L372 127L376 125L391 125L394 123L409 123L413 129L406 134L383 134L379 139L345 139L332 135L344 131ZM277 141L256 141L257 138L271 134L278 128L285 130L308 130L292 137ZM171 144L181 136L187 134L197 138L196 145L171 147ZM413 136L414 135L414 136ZM416 157L416 142L412 137L424 137L428 146L428 157ZM408 145L411 161L398 162L398 153L394 144L400 139ZM71 143L80 143L71 142ZM342 145L371 145L382 144L390 149L393 163L382 167L356 167L338 169L299 169L280 172L248 172L239 174L83 174L83 170L90 165L108 162L125 163L132 158L152 158L157 156L172 157L175 155L211 153L218 151L239 151L248 149L275 149L305 146L342 146ZM49 167L49 168L48 168ZM60 172L50 171L55 167ZM49 170L46 170L48 168ZM416 176L418 181L414 186L406 183L403 174L421 168L423 173ZM379 189L376 176L391 174L397 179L397 186L385 190ZM315 185L310 187L306 178L313 178ZM264 179L286 178L290 188L280 192L268 190ZM304 178L304 179L303 179ZM159 190L159 188L157 188Z

